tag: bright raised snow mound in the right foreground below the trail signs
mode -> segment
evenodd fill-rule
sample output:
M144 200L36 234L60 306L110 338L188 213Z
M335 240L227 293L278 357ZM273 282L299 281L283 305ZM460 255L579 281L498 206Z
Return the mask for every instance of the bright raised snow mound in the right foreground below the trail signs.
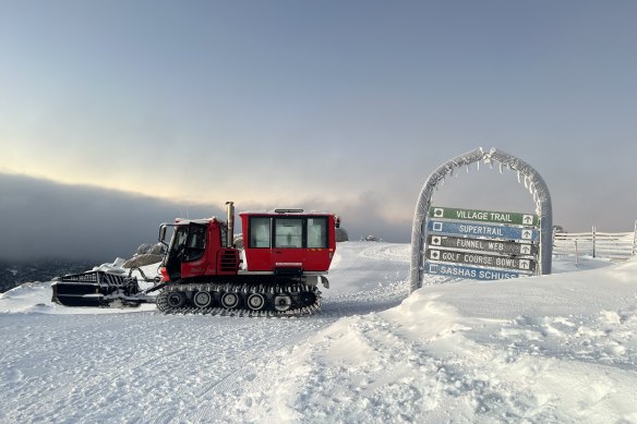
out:
M254 381L272 389L233 408L248 421L635 422L636 293L637 262L424 287L277 352Z

